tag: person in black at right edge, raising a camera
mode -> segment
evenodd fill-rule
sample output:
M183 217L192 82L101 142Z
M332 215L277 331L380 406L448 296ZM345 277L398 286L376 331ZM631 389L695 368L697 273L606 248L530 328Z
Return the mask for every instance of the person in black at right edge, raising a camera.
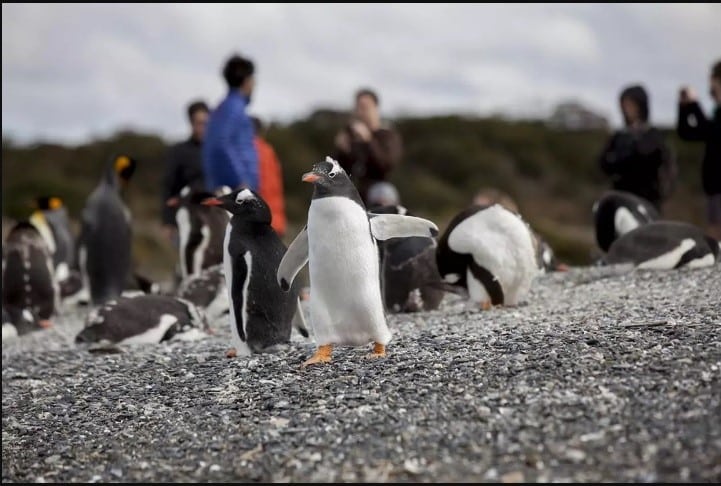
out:
M708 233L721 241L721 60L711 68L711 98L716 108L709 120L693 90L682 88L676 130L683 140L706 143L701 183L708 200Z

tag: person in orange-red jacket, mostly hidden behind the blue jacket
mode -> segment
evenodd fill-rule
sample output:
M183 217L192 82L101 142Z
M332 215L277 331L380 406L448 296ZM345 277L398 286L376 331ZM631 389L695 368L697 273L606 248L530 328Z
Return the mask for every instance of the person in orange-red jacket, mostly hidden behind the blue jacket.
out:
M275 149L263 138L263 122L251 117L255 127L255 150L258 153L258 192L270 207L272 220L270 225L279 236L285 234L285 197L283 195L283 171Z

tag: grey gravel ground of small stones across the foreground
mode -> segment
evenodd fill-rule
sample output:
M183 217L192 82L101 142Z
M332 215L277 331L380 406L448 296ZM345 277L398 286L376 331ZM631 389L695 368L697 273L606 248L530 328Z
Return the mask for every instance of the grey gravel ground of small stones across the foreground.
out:
M577 268L526 305L390 317L389 355L3 343L6 481L721 480L721 267ZM220 325L220 323L218 323Z

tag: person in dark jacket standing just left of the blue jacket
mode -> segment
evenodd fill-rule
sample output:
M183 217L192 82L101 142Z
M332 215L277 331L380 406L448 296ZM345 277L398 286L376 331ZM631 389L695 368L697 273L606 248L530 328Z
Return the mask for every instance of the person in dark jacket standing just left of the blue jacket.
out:
M208 105L201 100L193 101L188 105L187 111L191 129L190 137L168 149L165 163L163 200L161 202L162 223L163 232L170 241L174 241L177 230L176 208L168 206L166 201L171 197L178 196L186 185L202 187L204 184L201 148L205 136L205 126L208 123Z

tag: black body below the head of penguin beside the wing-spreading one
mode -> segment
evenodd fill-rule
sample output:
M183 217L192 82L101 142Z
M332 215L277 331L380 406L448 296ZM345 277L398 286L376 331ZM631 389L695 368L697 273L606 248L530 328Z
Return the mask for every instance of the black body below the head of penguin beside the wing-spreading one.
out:
M300 283L296 280L289 292L283 292L276 280L278 266L285 255L286 247L269 223L256 223L233 216L230 220L231 234L229 254L233 262L232 281L226 281L232 296L238 333L243 307L243 285L247 275L244 255L250 252L251 271L248 283L246 311L247 336L245 340L254 352L290 340L293 315L297 310ZM228 276L226 275L226 278Z

